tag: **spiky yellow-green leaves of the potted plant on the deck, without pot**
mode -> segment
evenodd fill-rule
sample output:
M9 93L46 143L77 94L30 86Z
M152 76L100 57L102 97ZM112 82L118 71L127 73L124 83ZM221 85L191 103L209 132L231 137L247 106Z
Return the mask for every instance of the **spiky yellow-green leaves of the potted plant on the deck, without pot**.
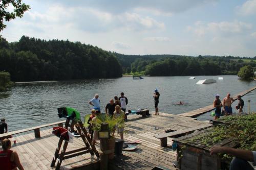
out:
M114 137L116 128L124 128L124 119L122 116L114 118L111 115L100 114L96 118L95 126L93 130L100 131L101 124L108 123L111 137Z

